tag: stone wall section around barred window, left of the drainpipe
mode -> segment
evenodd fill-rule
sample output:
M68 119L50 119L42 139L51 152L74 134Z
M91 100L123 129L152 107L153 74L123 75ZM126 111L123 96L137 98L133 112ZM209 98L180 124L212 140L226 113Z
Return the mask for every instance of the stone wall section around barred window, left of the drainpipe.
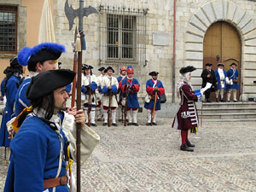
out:
M61 62L64 67L73 67L73 32L68 31L68 21L64 14L64 0L54 2L54 23L56 42L65 44L67 53L61 56ZM79 6L78 1L69 0L69 4L73 5L73 9ZM99 8L100 4L115 7L131 7L149 9L147 18L147 44L146 44L146 67L133 64L135 69L134 77L139 80L141 90L139 96L144 96L146 93L145 84L151 77L148 73L158 71L159 79L163 82L166 88L166 96L170 101L172 97L172 1L166 0L162 3L154 1L85 1L84 6L93 6ZM84 19L84 32L87 49L83 52L83 62L89 63L95 69L94 73L99 74L96 70L99 66L99 15L89 15ZM76 20L76 24L78 20ZM160 39L159 34L165 34L164 42ZM154 43L153 43L154 41ZM127 63L129 64L129 63ZM127 65L126 65L127 66ZM113 65L115 76L119 76L120 65Z

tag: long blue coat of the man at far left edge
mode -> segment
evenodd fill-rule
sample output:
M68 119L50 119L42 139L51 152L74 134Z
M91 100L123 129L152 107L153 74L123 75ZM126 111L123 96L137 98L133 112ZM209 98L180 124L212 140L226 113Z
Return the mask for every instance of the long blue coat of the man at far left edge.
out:
M10 139L9 132L7 131L6 123L11 119L12 113L14 113L15 96L17 92L17 83L19 83L20 77L12 75L6 84L6 104L3 110L3 118L1 122L0 130L0 147L9 147Z

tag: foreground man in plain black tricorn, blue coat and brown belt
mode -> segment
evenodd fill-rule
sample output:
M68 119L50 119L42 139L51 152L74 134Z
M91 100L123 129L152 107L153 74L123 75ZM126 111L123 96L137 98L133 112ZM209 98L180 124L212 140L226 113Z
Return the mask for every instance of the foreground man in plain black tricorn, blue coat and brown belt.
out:
M65 86L74 76L70 70L59 69L32 77L26 89L32 111L23 112L18 119L21 126L10 144L12 155L4 192L70 191L62 110L69 97ZM83 110L74 115L75 121L84 125Z

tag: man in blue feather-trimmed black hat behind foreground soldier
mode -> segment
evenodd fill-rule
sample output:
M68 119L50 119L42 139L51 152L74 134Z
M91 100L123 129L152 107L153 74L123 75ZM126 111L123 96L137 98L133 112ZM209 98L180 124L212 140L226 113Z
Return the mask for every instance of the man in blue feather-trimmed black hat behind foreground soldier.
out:
M22 66L27 65L29 73L20 84L15 96L15 116L18 116L24 108L31 106L30 100L26 98L26 88L31 78L38 73L55 69L55 63L62 52L65 52L65 46L55 43L38 44L33 48L25 47L20 50L18 61Z

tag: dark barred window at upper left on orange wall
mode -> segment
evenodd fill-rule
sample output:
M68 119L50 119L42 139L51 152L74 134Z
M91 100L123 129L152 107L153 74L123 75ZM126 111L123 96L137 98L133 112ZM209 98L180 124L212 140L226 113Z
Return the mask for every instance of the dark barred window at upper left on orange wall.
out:
M17 7L0 6L0 53L17 51Z

